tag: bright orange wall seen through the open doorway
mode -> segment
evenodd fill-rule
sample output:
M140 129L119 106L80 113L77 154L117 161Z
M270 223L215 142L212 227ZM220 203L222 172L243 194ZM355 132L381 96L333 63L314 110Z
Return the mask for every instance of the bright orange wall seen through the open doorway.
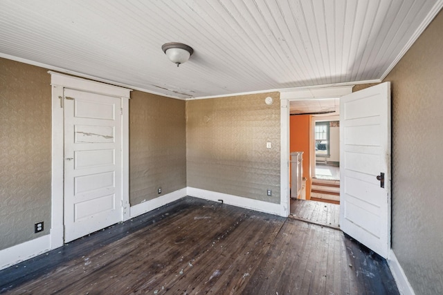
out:
M311 115L295 115L289 118L289 151L303 152L303 177L306 181L306 200L311 198L311 165L309 164L309 140L311 138Z

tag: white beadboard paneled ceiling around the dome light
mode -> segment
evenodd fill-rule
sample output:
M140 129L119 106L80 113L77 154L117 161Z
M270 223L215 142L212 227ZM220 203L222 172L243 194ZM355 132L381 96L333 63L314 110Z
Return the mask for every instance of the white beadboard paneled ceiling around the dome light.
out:
M442 2L1 0L0 57L185 99L377 82Z

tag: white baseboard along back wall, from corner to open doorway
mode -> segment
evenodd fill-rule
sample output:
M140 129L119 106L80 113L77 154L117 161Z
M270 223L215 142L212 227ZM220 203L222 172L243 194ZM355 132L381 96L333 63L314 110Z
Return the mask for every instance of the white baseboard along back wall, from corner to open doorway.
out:
M206 191L205 189L195 189L194 187L188 187L188 196L211 200L215 202L218 202L218 200L223 200L223 202L226 204L246 209L253 209L255 211L260 211L264 213L271 213L278 216L282 216L281 214L283 211L280 204L228 195L227 193L217 193L216 191Z

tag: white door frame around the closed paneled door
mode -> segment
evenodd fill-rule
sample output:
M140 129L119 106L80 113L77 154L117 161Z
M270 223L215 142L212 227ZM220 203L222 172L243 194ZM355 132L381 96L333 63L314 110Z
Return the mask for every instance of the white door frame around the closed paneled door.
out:
M122 220L129 215L129 95L132 89L55 73L52 88L51 249L64 244L64 88L120 98L122 113Z

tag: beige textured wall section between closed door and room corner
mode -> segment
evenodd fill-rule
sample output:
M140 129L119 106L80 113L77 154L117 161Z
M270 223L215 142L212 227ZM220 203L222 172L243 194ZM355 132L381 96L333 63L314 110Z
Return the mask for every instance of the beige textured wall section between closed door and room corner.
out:
M186 187L186 103L132 91L129 99L131 206ZM161 187L162 193L157 193Z

